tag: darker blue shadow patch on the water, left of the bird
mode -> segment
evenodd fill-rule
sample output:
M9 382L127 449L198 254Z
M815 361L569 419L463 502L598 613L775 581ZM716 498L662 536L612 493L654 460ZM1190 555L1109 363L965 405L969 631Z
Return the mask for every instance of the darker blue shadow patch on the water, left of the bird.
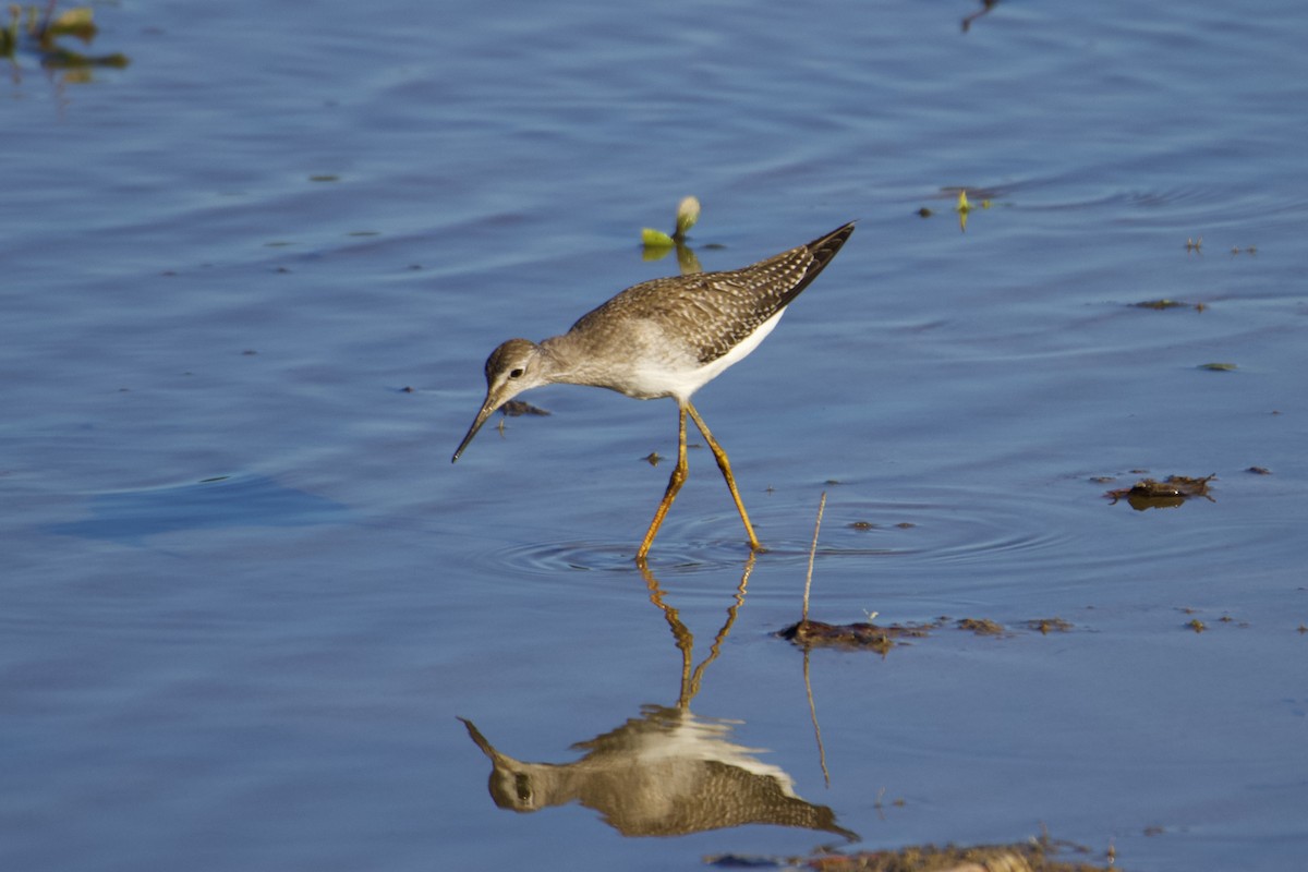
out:
M344 523L352 516L343 503L251 475L92 494L89 509L89 518L43 529L55 536L143 545L146 536L179 531L307 527Z

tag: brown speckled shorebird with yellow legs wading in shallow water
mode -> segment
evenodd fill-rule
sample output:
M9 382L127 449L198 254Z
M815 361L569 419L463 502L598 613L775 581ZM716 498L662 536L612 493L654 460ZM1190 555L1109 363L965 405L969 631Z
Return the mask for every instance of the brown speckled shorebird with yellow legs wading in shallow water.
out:
M668 276L634 285L542 343L510 339L487 358L487 397L454 451L454 463L487 418L523 391L543 384L607 387L637 400L670 396L678 407L676 467L636 553L644 563L687 477L685 416L704 434L731 492L749 548L759 550L727 452L691 396L759 346L786 307L818 277L854 233L854 224L742 269Z

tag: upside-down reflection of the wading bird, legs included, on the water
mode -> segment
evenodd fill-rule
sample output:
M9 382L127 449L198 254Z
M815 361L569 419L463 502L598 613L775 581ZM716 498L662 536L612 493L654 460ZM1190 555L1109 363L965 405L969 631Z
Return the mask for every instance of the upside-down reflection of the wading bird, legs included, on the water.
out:
M858 834L836 824L835 812L808 803L794 779L761 761L759 749L731 740L739 720L704 718L691 711L704 672L717 660L744 604L753 570L746 561L722 629L708 655L695 664L695 637L676 608L664 601L658 580L642 567L653 603L667 620L680 652L676 705L650 703L641 714L594 739L576 743L586 756L570 763L519 761L498 750L471 720L468 736L490 760L490 796L496 805L536 812L581 803L599 812L623 835L687 835L748 824L793 826L833 833L850 842Z

